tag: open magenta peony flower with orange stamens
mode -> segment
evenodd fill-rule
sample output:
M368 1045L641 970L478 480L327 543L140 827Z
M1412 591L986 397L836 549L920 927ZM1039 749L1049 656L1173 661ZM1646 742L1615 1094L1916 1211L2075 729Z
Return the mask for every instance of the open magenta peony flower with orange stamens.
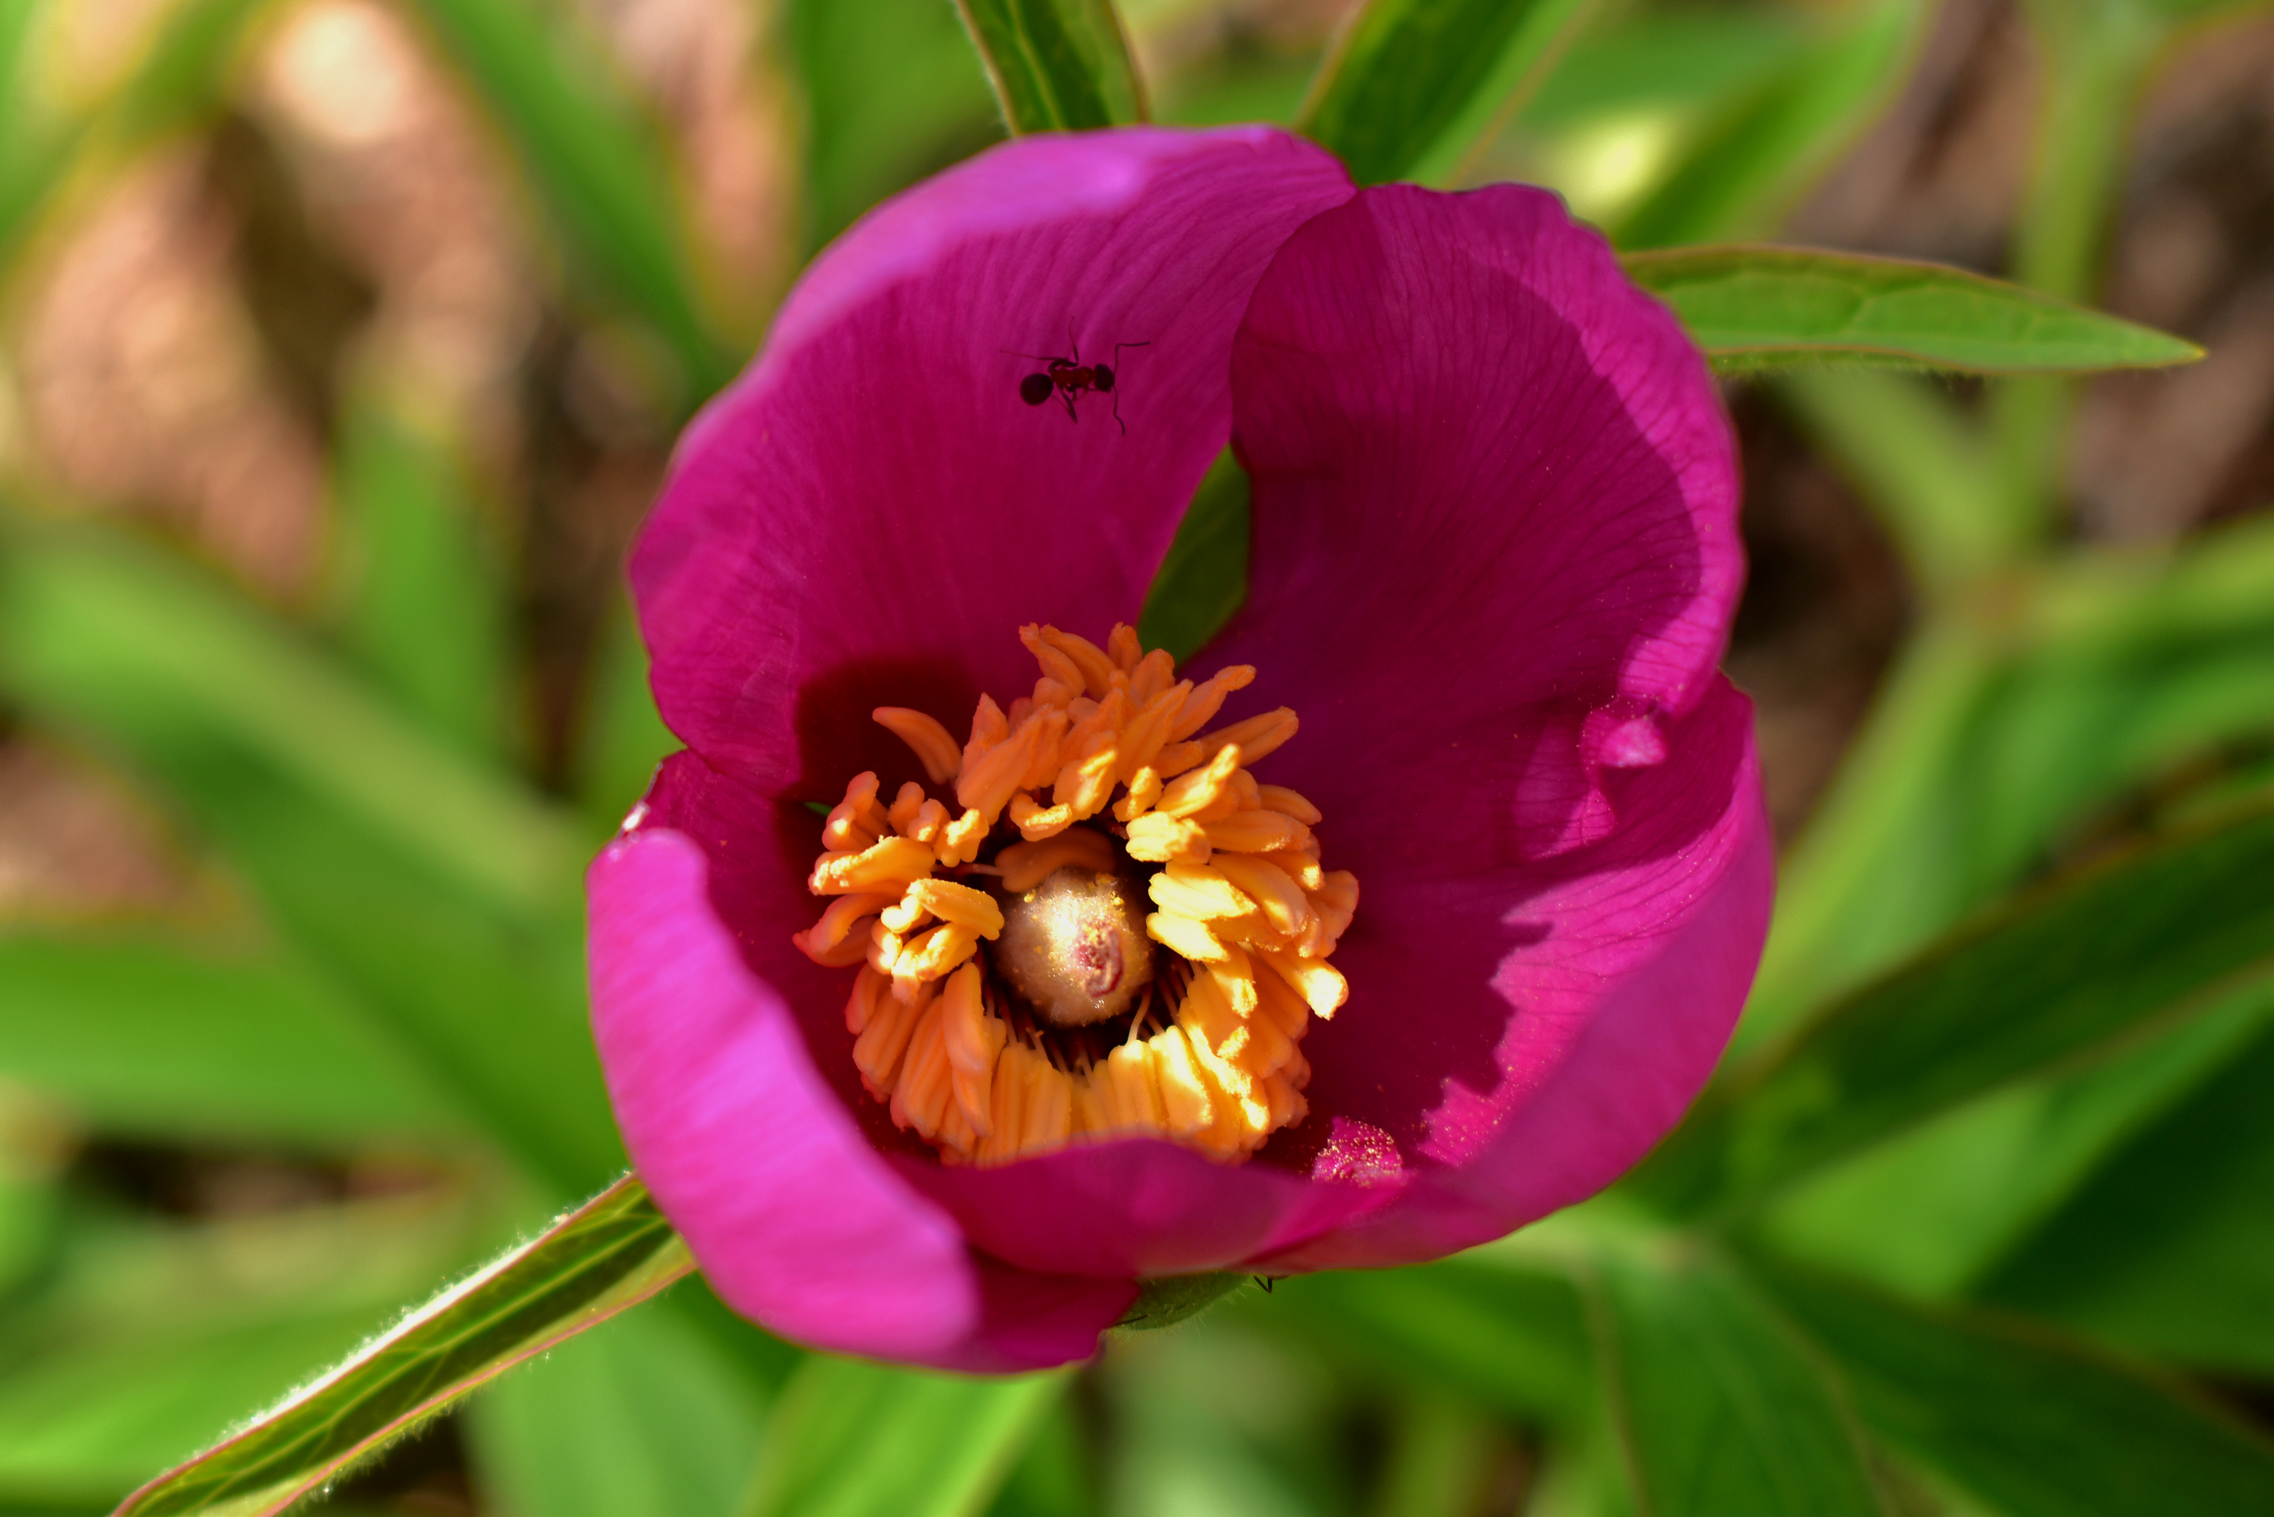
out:
M1107 630L1228 439L1251 591L1185 685ZM687 751L591 867L594 1030L719 1294L1030 1369L1146 1278L1428 1260L1608 1185L1767 926L1735 505L1703 359L1542 191L1126 130L871 214L632 555ZM1057 862L1121 885L1080 951Z

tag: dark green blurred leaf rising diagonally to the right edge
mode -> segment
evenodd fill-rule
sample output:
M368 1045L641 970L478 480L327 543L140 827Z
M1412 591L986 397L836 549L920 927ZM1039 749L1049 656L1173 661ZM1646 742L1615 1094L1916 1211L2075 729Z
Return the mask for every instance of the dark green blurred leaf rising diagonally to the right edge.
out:
M2008 1080L2106 1053L2274 964L2274 803L2033 892L1717 1085L1637 1174L1726 1212Z

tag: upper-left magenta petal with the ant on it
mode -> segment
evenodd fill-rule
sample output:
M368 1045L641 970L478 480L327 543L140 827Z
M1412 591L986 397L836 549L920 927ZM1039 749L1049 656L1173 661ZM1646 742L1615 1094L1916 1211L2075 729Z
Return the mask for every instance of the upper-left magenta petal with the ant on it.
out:
M1230 343L1285 237L1351 196L1267 127L1028 136L873 212L689 428L632 555L664 721L769 796L907 771L1035 680L1019 623L1103 641L1230 434ZM1126 348L1114 359L1117 343ZM1119 362L1080 423L1037 359Z

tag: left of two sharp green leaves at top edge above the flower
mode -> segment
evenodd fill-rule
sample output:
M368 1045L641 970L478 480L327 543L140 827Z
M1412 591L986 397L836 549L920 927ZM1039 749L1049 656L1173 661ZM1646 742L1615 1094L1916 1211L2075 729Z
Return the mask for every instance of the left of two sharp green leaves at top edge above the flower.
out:
M955 0L1014 134L1144 121L1112 0Z

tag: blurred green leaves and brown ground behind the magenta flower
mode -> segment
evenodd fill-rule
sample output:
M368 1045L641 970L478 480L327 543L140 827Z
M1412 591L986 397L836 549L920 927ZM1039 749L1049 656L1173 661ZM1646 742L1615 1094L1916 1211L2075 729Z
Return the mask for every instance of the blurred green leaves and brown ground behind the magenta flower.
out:
M1728 389L1785 846L1740 1048L2176 835L2012 960L2117 967L1735 1221L1665 1164L1003 1385L689 1280L334 1510L2274 1512L2274 16L1437 9L1524 68L1376 177L2210 350ZM1121 7L1173 123L1296 118L1342 11ZM948 0L0 0L0 1515L109 1510L621 1171L578 873L671 748L623 548L800 264L1001 134Z

